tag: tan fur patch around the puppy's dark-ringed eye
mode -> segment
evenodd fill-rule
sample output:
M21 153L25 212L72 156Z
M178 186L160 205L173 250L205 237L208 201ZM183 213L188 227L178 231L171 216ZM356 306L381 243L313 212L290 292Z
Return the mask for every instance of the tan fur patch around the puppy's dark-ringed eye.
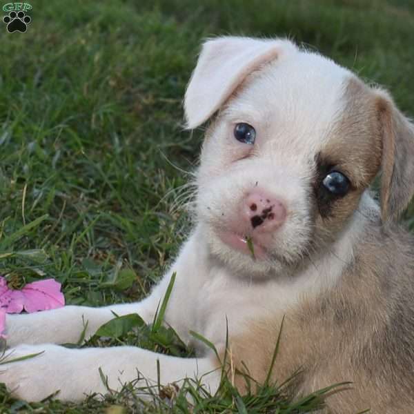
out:
M357 210L359 199L380 170L382 130L378 122L375 96L355 77L348 79L342 97L344 110L327 132L328 144L322 158L344 173L351 189L331 204L331 214L315 216L315 240L335 239L348 217Z

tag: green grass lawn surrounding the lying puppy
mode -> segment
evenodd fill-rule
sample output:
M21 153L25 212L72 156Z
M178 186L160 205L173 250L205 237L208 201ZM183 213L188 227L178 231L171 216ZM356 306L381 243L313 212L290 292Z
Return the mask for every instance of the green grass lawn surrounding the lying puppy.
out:
M16 286L55 277L68 304L139 300L177 253L189 226L181 170L193 170L201 144L200 131L182 130L181 99L204 37L288 35L382 83L414 115L411 0L32 6L25 34L0 27L0 273ZM414 228L413 207L406 219ZM277 387L240 397L192 386L199 412L311 409ZM191 411L182 398L141 404L132 388L82 404L28 404L0 390L4 413Z

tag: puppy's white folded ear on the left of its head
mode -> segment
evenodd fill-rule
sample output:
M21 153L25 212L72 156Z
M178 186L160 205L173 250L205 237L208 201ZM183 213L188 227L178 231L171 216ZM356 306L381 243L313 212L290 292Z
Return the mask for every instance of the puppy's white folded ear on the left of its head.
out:
M251 72L279 57L282 50L296 47L282 39L218 37L206 41L184 99L187 128L203 124Z

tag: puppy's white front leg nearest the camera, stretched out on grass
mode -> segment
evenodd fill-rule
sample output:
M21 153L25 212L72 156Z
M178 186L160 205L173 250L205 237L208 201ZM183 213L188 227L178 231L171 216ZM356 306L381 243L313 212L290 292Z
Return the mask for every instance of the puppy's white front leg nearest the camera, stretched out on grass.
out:
M185 377L197 378L215 393L221 375L214 356L170 357L132 346L69 349L53 344L21 345L8 351L7 358L36 353L41 355L0 365L0 382L23 400L43 400L59 390L57 398L70 401L83 400L90 393L107 393L99 368L111 390L119 391L123 384L137 379L137 387L156 385L157 359L161 384L179 385Z

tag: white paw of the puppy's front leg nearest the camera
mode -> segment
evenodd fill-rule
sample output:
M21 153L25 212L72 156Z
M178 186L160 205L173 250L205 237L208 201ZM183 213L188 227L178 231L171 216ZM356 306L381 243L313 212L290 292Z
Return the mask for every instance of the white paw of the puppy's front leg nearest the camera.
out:
M81 356L81 350L52 344L11 348L0 365L0 382L14 397L27 401L40 401L55 393L60 400L79 401L86 393L105 392L103 384L88 382L87 364L77 359L76 352Z

